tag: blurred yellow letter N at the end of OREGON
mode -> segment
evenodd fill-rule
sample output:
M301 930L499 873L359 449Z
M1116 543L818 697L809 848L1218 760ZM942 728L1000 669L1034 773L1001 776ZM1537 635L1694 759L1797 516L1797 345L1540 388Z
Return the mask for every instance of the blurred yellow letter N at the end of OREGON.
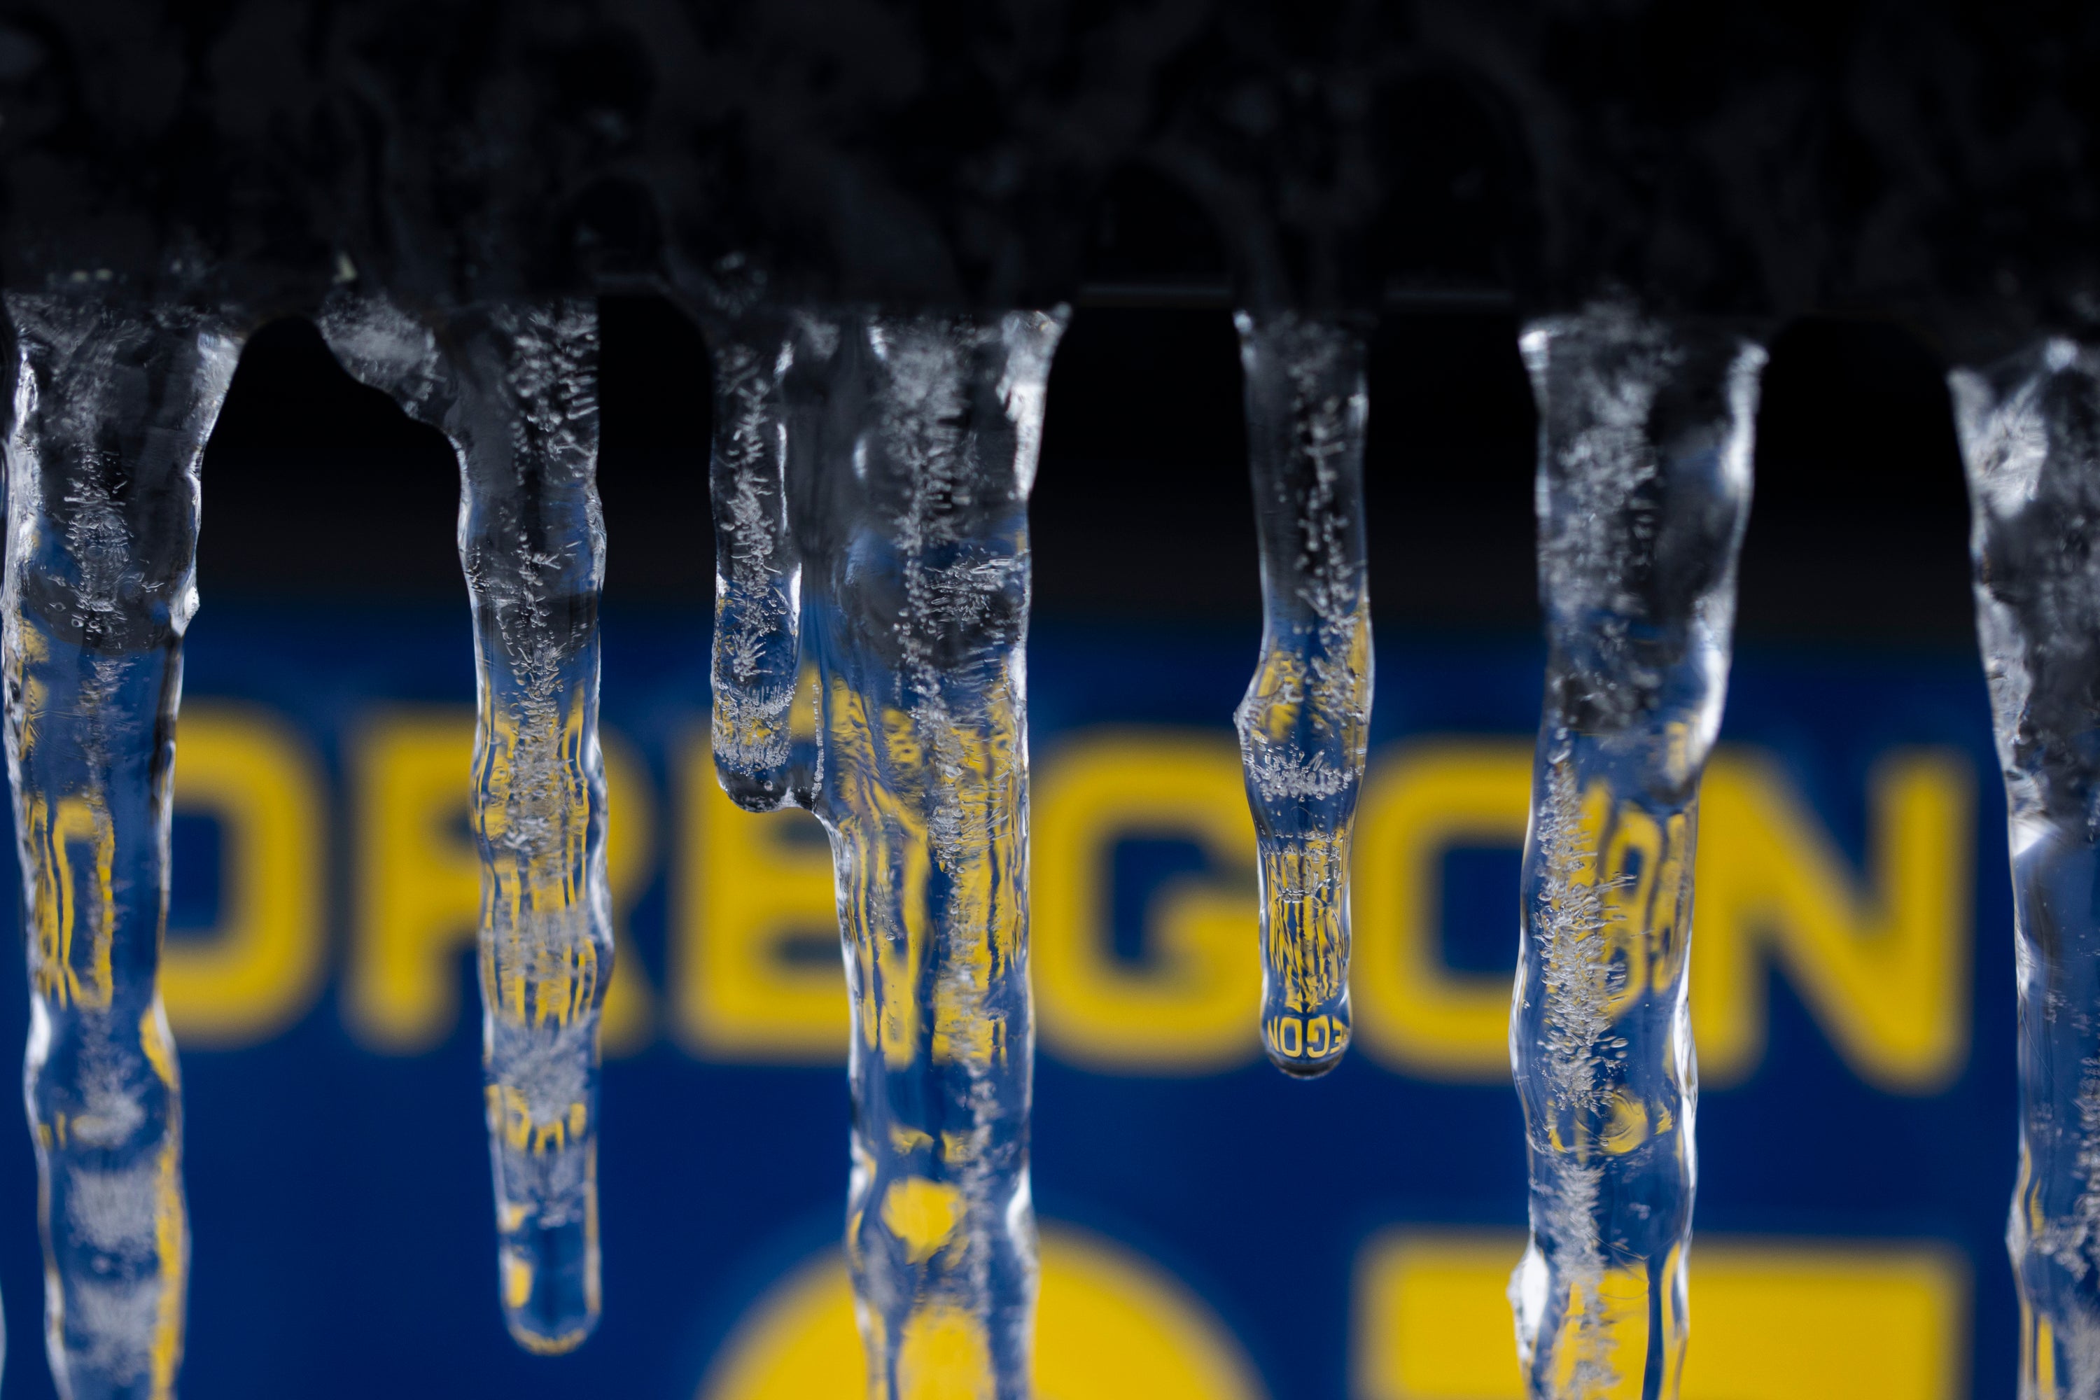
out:
M1930 1094L1968 1052L1974 781L1940 749L1900 749L1869 781L1865 888L1766 758L1722 749L1701 793L1693 1028L1709 1083L1764 1054L1770 949L1867 1083Z

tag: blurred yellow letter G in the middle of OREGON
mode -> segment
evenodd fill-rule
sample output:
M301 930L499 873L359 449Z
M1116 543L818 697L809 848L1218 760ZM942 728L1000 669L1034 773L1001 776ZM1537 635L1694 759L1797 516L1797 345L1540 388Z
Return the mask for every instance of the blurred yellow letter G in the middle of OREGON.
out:
M1193 842L1216 871L1153 894L1144 966L1117 961L1111 942L1113 856L1128 840ZM1208 1075L1258 1056L1254 821L1231 739L1067 739L1035 764L1031 842L1035 1016L1052 1054L1126 1075Z

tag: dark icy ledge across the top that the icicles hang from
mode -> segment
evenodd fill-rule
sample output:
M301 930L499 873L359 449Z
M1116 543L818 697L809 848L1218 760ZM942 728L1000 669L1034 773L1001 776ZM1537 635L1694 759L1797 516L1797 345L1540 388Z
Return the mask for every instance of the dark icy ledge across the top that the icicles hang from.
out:
M10 285L2090 327L2075 0L4 0Z

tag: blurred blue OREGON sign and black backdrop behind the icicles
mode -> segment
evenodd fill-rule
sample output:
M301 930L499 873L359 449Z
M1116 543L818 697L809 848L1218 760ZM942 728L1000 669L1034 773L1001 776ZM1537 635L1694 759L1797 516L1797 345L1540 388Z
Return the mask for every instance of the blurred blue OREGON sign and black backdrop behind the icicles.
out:
M1516 1400L1499 1018L1541 655L1514 323L1380 330L1359 1039L1292 1083L1256 1045L1231 745L1258 634L1231 325L1130 300L1079 309L1035 510L1044 1394ZM605 315L605 1322L544 1360L496 1308L452 464L288 323L206 462L178 758L193 1396L850 1377L821 833L714 791L706 363L657 302ZM1781 336L1701 829L1690 1400L2012 1394L2010 896L1951 453L1926 346ZM34 1209L0 1129L10 1400L50 1394Z

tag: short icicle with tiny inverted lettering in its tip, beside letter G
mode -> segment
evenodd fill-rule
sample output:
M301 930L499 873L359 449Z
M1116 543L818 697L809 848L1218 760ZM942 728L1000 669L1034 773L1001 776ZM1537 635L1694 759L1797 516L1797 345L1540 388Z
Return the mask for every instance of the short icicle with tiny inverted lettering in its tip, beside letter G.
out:
M1262 1047L1323 1075L1348 1047L1348 837L1371 724L1363 340L1239 313L1262 542L1262 661L1235 716L1260 850Z

